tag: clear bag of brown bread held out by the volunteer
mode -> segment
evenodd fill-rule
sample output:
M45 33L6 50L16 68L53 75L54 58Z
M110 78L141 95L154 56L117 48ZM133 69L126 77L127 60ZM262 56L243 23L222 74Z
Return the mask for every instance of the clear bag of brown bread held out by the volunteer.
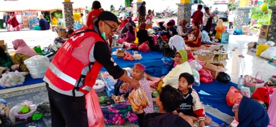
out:
M133 90L128 96L128 101L132 107L133 112L137 112L140 109L143 110L149 106L146 93L141 88Z

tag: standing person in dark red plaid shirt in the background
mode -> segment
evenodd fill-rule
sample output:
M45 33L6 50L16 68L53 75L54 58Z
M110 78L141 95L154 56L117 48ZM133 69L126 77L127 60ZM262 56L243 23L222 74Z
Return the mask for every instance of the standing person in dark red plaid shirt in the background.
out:
M196 22L198 24L198 26L197 26L198 29L200 28L200 25L201 25L201 27L203 26L202 25L203 24L203 12L201 11L201 9L202 9L202 5L201 4L197 5L197 10L194 11L192 13L192 15L190 16L190 18L192 18L191 23Z

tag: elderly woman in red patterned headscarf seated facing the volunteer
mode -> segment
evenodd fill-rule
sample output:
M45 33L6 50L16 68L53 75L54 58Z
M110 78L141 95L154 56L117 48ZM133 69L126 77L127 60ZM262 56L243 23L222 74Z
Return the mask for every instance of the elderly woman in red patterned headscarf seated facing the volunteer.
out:
M139 81L140 88L143 89L147 95L149 106L144 109L144 112L147 113L153 113L153 103L152 103L152 97L151 97L151 88L148 83L148 81L144 77L146 67L143 64L134 64L134 67L131 71L131 76L133 79ZM128 83L123 83L120 87L120 93L131 93L133 88ZM130 105L129 101L127 100L123 104Z

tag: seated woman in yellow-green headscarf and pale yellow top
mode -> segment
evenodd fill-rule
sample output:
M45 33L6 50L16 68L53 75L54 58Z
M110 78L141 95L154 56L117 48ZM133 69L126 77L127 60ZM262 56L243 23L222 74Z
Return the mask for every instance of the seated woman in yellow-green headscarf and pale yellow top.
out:
M149 84L153 88L158 88L160 81L163 82L163 86L172 85L174 88L178 89L178 80L181 73L187 72L192 74L190 65L187 62L187 52L185 50L179 50L176 53L175 62L177 63L176 67L173 68L166 76L161 78L152 77L145 73L145 77L149 80Z

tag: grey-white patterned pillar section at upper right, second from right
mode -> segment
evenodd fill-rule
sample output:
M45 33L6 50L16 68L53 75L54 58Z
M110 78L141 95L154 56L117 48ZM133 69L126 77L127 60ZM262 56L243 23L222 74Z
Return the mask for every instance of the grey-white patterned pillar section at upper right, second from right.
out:
M242 26L249 23L249 12L251 7L237 7L238 15L236 20L236 29L242 29Z

